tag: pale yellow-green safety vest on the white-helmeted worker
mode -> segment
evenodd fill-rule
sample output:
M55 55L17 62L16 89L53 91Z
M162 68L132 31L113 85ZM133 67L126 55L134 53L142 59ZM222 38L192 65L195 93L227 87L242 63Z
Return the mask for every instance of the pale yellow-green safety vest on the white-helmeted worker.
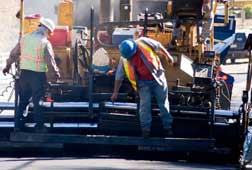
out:
M36 72L47 72L47 65L44 59L46 41L28 34L21 42L20 68Z

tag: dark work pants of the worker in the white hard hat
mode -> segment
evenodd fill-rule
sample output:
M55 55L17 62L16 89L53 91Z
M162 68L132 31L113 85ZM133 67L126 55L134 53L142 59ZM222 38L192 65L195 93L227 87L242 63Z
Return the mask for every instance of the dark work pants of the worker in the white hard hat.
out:
M44 72L34 72L29 70L21 70L19 79L19 106L17 115L15 115L15 127L20 127L23 123L23 112L29 104L32 97L34 109L34 122L37 127L43 126L44 115L39 101L45 94L46 74Z

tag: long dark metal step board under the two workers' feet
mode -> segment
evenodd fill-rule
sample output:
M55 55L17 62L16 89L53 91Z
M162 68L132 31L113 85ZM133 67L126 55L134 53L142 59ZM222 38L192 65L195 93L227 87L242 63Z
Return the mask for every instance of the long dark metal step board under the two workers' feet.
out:
M72 143L96 145L121 145L164 148L173 151L208 151L215 146L215 140L210 138L143 138L131 136L105 135L65 135L65 134L38 134L13 132L10 135L13 142L45 142L45 143Z

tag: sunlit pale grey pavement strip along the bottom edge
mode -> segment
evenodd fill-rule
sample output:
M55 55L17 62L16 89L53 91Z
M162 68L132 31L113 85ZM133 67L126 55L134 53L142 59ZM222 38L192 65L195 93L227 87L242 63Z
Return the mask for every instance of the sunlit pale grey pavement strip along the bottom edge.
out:
M233 170L235 167L187 162L111 158L0 158L2 170Z

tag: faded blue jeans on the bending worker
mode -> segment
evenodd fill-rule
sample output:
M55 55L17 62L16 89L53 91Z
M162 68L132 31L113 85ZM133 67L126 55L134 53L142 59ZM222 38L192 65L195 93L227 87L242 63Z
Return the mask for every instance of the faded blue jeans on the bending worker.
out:
M165 82L163 86L159 85L155 80L139 80L138 94L140 97L140 125L142 131L150 131L151 128L151 95L154 94L160 109L164 129L172 127L173 118L170 114L168 101L168 86Z

